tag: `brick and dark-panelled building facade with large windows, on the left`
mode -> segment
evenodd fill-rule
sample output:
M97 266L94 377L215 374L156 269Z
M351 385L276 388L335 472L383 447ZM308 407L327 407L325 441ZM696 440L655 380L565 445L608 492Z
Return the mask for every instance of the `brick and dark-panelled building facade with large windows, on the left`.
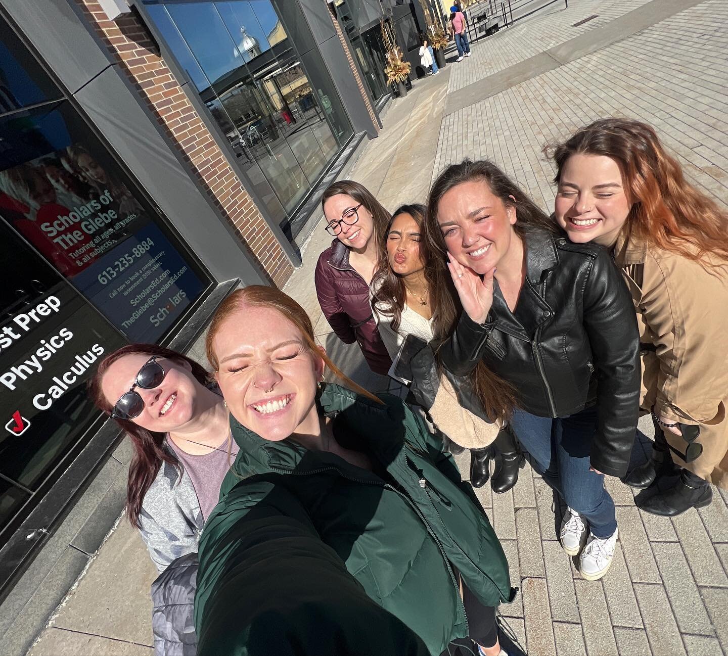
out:
M8 653L124 507L128 445L85 392L98 361L201 356L226 294L285 283L380 91L322 0L0 0Z

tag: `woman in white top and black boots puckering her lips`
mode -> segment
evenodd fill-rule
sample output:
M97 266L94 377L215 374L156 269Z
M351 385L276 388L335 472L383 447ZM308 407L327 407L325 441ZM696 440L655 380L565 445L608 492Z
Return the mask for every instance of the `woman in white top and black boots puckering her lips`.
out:
M402 205L395 210L387 232L380 240L379 265L371 285L372 307L379 324L379 334L393 361L396 361L408 335L416 336L427 344L435 338L432 332L435 318L432 316L430 289L424 274L424 262L419 253L422 222L426 211L424 205ZM427 374L430 374L429 370ZM422 388L425 384L429 386L431 383L429 380L414 382L415 389ZM440 386L443 384L447 385L446 382L440 382ZM491 479L491 487L497 493L506 492L515 485L518 481L518 470L524 462L513 433L502 427L515 404L507 388L505 382L494 381L493 392L488 394L488 399L494 400L497 396L502 403L500 406L491 403L488 408L486 414L489 414L487 419L492 424L490 427L476 424L478 430L473 431L448 430L448 427L458 425L452 420L458 419L457 415L462 412L461 408L454 407L456 398L448 403L449 385L447 390L442 391L439 387L433 388L427 394L430 403L422 404L432 415L435 424L447 435L448 443L470 450L470 483L473 487L482 487L488 482L491 457L494 452L499 456L496 458L496 470ZM464 421L478 422L478 419L468 417Z

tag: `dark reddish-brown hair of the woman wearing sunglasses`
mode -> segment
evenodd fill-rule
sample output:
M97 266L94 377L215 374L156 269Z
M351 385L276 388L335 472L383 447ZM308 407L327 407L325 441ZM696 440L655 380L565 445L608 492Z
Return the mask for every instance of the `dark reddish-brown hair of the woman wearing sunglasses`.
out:
M108 415L111 415L114 408L103 395L101 381L103 375L106 374L106 370L124 355L147 355L149 357L156 355L157 357L167 357L169 360L177 360L179 363L187 363L191 367L192 376L200 384L209 385L212 383L212 378L205 371L205 368L186 355L171 349L165 349L165 347L159 347L156 344L127 344L125 347L109 353L101 360L96 373L88 382L88 393L91 400L97 408ZM168 462L176 467L179 475L182 475L182 466L178 459L164 447L165 433L146 430L146 428L124 419L114 419L114 421L129 435L134 447L134 455L129 466L127 481L127 517L132 526L141 528L139 513L141 513L144 495L149 490L151 483L154 482L162 462Z

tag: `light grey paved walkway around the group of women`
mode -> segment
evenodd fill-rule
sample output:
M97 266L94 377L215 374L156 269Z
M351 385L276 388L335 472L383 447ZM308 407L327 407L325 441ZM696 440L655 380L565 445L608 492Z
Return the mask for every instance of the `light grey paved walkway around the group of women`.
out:
M728 204L728 2L552 7L474 44L472 57L389 103L384 130L350 177L393 210L424 202L448 163L489 157L550 211L553 168L544 144L598 116L633 116L657 127L693 183ZM317 339L344 371L381 389L387 380L371 374L357 347L341 344L321 315L313 270L329 242L323 225L314 231L285 291L306 307ZM649 448L640 444L636 462ZM457 460L467 476L468 455ZM553 495L529 467L513 491L478 491L521 588L502 609L505 621L533 656L727 654L728 494L670 520L638 510L619 481L608 487L620 547L601 582L582 580L561 550L561 508L555 504L555 516ZM138 534L122 520L30 653L151 654L154 576Z

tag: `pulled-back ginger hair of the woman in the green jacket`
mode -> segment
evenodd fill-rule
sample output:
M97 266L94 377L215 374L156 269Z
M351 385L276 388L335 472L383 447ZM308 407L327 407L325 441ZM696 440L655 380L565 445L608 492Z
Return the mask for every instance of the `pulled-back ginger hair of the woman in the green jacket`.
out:
M237 312L242 307L267 307L274 309L280 314L293 323L293 325L301 331L301 335L304 337L306 347L316 357L321 357L324 364L328 367L331 373L336 376L346 387L350 387L357 394L363 395L377 403L381 401L376 398L371 392L368 392L360 385L357 385L352 379L349 379L339 367L337 367L332 361L331 357L325 352L321 352L316 344L314 337L314 327L311 323L309 315L296 301L290 298L288 294L280 291L280 289L274 287L267 287L266 285L249 285L244 289L238 289L228 296L218 307L217 312L213 320L210 322L210 329L207 331L207 338L205 339L205 353L207 354L207 360L213 365L215 371L220 368L220 361L218 355L215 353L215 336L220 332L220 328L223 322L230 315Z

